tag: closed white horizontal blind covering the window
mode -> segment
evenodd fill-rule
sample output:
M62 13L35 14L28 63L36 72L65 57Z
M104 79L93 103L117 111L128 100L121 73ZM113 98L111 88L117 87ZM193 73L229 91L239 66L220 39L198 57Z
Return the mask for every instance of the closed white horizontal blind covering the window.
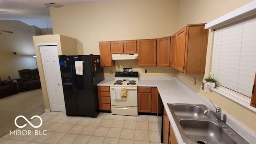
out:
M218 85L251 98L256 71L256 18L214 31L212 70Z

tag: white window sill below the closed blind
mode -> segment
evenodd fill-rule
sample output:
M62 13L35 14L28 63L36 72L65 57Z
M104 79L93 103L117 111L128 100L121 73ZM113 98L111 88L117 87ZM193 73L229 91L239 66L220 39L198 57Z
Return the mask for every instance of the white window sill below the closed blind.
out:
M237 98L236 96L232 96L231 94L228 94L218 88L211 88L212 91L217 92L218 94L221 94L222 96L236 102L237 104L240 104L241 106L244 106L248 110L251 110L252 112L256 112L256 108L250 106L250 102L246 102L246 100L241 100L240 98Z

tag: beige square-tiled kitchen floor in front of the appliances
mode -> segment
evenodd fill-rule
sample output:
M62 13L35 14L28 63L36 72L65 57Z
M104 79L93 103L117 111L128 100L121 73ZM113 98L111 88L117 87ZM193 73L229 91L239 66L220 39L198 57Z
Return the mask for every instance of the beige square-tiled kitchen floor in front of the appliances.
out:
M47 130L47 135L17 136L8 133L0 138L0 144L160 144L158 116L121 116L100 113L97 118L66 116L64 112L40 115L39 128L27 124L23 130ZM38 118L31 120L38 126Z

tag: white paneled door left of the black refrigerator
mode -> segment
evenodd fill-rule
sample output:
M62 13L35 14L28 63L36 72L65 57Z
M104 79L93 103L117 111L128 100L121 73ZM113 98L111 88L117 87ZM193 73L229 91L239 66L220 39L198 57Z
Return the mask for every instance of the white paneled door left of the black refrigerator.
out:
M57 46L40 46L51 111L66 112Z

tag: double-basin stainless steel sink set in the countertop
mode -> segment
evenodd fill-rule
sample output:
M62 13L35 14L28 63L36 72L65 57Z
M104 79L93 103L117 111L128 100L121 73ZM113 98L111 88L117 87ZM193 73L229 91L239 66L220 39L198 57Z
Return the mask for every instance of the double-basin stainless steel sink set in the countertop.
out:
M249 144L223 121L204 115L203 104L167 104L186 144Z

